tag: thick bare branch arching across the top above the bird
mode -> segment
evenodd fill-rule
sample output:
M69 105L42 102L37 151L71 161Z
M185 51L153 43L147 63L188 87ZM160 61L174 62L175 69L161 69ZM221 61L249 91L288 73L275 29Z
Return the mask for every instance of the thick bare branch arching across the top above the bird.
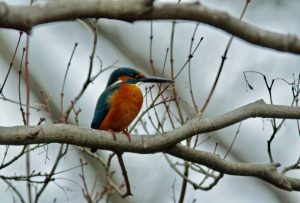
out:
M76 18L108 18L123 21L181 19L206 23L250 43L283 52L300 53L300 39L258 28L226 12L199 3L157 3L141 0L68 0L50 1L43 5L11 6L0 3L0 27L24 30L40 24Z

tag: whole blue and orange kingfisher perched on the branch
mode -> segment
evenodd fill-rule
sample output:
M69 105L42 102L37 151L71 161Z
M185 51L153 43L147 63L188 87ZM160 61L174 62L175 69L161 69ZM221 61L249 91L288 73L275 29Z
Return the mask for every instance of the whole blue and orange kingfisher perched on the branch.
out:
M148 77L128 67L114 70L108 79L105 90L100 94L91 128L107 130L116 139L116 132L123 132L130 140L127 131L143 104L143 94L138 87L141 83L173 83L162 77ZM91 149L95 152L97 149Z

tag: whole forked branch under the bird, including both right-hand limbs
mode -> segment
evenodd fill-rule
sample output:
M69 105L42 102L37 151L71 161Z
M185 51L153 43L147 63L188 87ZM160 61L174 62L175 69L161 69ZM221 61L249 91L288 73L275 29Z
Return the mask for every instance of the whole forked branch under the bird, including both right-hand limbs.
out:
M164 134L121 135L115 140L109 132L78 126L54 124L46 126L0 127L0 144L26 145L67 143L116 152L166 152L178 158L205 165L224 174L254 176L284 190L300 191L300 180L277 171L278 163L249 164L222 160L217 155L194 150L178 143L196 134L211 132L251 117L299 119L300 107L265 104L262 100L247 104L213 118L196 117L185 125Z

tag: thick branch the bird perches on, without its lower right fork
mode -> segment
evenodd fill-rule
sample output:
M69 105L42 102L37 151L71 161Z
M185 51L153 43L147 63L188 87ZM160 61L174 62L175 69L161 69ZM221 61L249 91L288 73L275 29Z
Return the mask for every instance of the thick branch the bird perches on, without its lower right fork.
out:
M65 124L0 127L0 144L67 143L120 152L153 153L166 150L193 135L216 131L251 117L299 119L300 107L265 104L259 100L212 118L197 116L164 134L131 135L131 141L123 135L117 136L116 141L107 131Z

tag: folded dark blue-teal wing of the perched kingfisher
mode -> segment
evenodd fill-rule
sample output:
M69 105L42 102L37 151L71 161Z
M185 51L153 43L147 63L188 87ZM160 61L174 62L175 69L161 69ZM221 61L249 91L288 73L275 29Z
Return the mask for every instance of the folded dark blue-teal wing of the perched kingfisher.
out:
M105 116L107 115L110 104L109 99L113 92L117 90L120 85L113 85L107 87L104 92L100 95L97 101L94 118L91 124L91 128L98 129L101 122L104 120Z

